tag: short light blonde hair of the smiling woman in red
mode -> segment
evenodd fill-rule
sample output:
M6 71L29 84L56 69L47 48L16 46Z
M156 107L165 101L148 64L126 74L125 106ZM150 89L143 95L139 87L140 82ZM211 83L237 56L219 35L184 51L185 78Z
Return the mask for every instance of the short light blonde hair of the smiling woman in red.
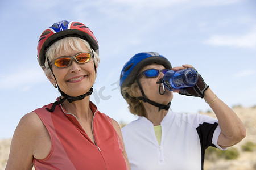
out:
M51 70L49 69L48 60L49 62L52 62L55 59L55 56L58 56L61 52L69 52L69 50L75 50L77 52L82 52L82 47L80 45L80 42L83 42L85 46L91 50L89 43L84 40L80 39L79 37L65 37L63 39L60 39L56 42L54 42L47 50L46 50L46 61L44 62L44 73L46 75L52 76ZM100 63L100 56L92 49L90 51L93 53L94 56L94 63L96 67Z

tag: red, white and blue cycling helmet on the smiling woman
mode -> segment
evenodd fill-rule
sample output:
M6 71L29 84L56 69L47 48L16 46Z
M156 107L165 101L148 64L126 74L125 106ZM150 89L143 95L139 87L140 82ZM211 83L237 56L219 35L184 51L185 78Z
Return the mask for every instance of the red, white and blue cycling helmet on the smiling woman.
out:
M54 23L52 27L47 28L38 41L38 62L43 68L46 61L46 50L57 40L65 37L79 37L88 41L92 49L98 54L98 41L88 27L80 22L68 22L63 20Z

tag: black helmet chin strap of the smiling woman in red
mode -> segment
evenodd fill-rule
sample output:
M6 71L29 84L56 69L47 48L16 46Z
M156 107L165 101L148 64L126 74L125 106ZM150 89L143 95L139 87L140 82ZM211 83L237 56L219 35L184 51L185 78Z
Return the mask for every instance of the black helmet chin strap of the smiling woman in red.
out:
M93 61L94 61L94 60L93 60ZM47 58L47 62L48 62L48 65L49 65L49 69L51 70L52 75L53 75L53 77L55 78L55 81L56 81L56 83L57 83L57 79L56 79L55 75L53 74L52 66L51 66L51 63L49 62L49 59L48 59L48 58ZM95 70L95 75L96 75L97 69L96 69L96 66L95 66L95 62L93 62L93 63L94 63L94 70ZM69 95L65 94L65 93L60 89L59 86L57 86L57 87L58 87L58 90L59 90L61 96L63 96L63 98L60 99L60 100L58 100L58 101L55 101L55 102L52 104L51 109L46 108L47 111L49 111L49 112L53 112L53 111L55 110L55 107L56 107L57 105L63 103L66 99L68 100L69 103L72 103L73 101L77 101L77 100L82 100L82 99L84 99L86 96L91 95L92 92L93 92L93 88L91 87L90 90L89 90L88 92L86 92L85 94L80 95L80 96L76 96L76 97L72 97L72 96L69 96Z

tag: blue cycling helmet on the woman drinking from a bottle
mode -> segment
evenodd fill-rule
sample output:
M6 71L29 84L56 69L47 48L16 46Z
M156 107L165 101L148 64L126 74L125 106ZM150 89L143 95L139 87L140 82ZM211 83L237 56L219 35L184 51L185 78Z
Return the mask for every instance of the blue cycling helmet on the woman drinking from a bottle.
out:
M131 57L131 59L125 63L120 75L120 88L124 98L125 94L123 94L122 89L133 84L139 74L139 71L144 66L151 65L153 63L163 65L166 69L172 69L171 63L168 59L156 52L142 52L135 54L135 56Z

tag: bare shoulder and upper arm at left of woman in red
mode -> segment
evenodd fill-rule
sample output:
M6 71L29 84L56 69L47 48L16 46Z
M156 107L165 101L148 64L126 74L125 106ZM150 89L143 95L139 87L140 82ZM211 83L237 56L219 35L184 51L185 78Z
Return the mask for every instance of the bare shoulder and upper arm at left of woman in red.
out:
M42 146L43 142L46 146ZM45 153L39 150L40 145ZM43 122L35 112L27 113L14 131L6 169L31 169L33 158L44 158L50 148L51 139Z

